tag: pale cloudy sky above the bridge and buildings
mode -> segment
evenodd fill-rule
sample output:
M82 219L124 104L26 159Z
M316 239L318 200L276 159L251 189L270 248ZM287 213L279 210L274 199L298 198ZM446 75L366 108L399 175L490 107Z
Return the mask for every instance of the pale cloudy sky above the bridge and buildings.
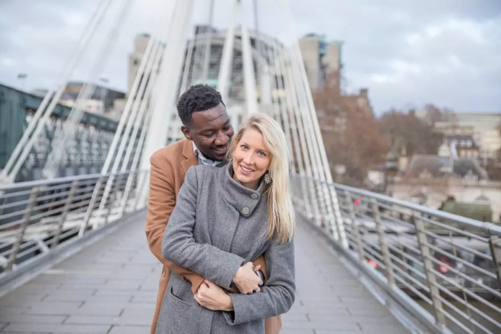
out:
M250 13L250 0L244 1ZM0 83L27 90L53 86L97 3L0 0ZM171 9L163 3L172 2L135 2L99 71L111 87L126 89L128 53L136 34L168 29ZM196 3L194 22L208 22L207 6ZM290 0L294 30L278 3L258 0L260 30L285 40L314 32L343 41L346 88L369 88L377 113L425 103L459 112L501 110L499 0ZM229 24L231 4L216 0L217 28ZM90 65L117 9L112 7L72 79L93 76ZM252 26L250 16L247 21ZM19 73L28 78L20 81Z

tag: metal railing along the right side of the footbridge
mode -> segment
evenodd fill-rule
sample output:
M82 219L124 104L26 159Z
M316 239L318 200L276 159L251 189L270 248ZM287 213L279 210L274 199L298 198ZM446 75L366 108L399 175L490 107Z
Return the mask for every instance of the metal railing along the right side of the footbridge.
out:
M304 181L298 176L293 180L296 187ZM314 182L326 193L337 194L342 222L316 217L299 197L297 205L384 286L417 301L418 312L429 312L426 318L438 332L501 332L501 226L362 189ZM347 245L339 242L339 233L345 233Z

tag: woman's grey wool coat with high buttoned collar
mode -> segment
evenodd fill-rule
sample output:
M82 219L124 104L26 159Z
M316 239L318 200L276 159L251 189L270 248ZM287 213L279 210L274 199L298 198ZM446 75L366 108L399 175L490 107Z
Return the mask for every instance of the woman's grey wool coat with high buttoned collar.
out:
M264 254L268 280L261 292L230 293L234 311L227 312L200 306L189 284L171 274L158 334L262 334L264 319L294 302L294 242L267 237L264 182L252 190L231 175L231 164L188 169L163 235L163 256L229 289L238 267Z

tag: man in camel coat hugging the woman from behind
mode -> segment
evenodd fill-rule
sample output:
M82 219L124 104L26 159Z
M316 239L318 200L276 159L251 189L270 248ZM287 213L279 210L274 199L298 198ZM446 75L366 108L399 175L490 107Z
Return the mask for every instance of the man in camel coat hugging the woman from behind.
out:
M175 265L162 255L162 237L177 194L189 167L198 164L221 167L229 148L233 128L221 95L206 85L195 85L184 92L177 104L185 139L172 143L150 158L150 189L146 217L146 238L151 252L163 264L151 333L155 332L163 296L171 270L191 286L193 293L204 278ZM266 274L264 257L253 261ZM170 269L167 267L169 266ZM280 316L265 320L266 334L276 334L282 326Z

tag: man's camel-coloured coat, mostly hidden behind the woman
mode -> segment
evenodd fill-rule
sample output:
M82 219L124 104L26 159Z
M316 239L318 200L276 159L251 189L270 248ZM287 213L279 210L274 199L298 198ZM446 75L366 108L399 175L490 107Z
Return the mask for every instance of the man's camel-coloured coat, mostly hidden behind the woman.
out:
M196 292L204 278L191 270L165 259L162 255L163 233L176 204L179 189L184 183L184 176L189 167L198 165L198 157L193 152L193 143L186 139L172 143L153 153L150 163L146 238L151 252L163 264L158 283L155 313L151 324L151 333L153 334L171 271L190 285L193 293ZM260 256L253 262L261 264L261 269L266 277L267 270L264 257ZM278 334L281 327L282 321L280 315L265 319L266 334Z

